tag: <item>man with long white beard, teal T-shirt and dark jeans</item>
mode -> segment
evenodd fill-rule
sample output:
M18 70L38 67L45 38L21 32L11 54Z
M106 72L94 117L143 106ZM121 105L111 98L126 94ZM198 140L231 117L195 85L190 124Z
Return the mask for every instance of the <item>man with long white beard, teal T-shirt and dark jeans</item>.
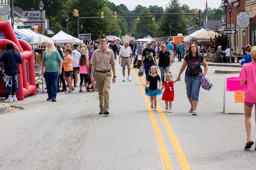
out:
M44 65L45 64L45 65ZM41 68L44 75L48 98L47 101L57 102L58 76L62 71L62 59L52 42L47 43L46 51L43 54Z

